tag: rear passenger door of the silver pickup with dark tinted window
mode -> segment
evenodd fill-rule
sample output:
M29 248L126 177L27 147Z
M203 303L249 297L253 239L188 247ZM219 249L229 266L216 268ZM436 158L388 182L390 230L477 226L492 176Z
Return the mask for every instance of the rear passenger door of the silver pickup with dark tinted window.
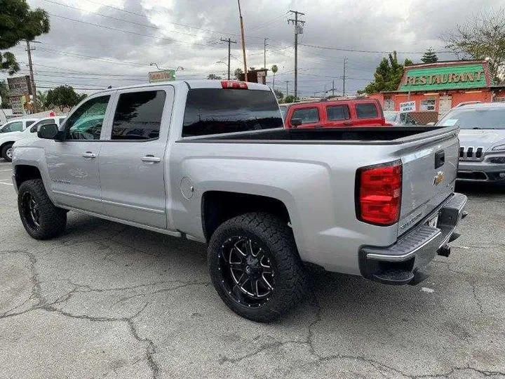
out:
M164 157L173 98L173 86L118 91L99 160L106 215L167 227Z

